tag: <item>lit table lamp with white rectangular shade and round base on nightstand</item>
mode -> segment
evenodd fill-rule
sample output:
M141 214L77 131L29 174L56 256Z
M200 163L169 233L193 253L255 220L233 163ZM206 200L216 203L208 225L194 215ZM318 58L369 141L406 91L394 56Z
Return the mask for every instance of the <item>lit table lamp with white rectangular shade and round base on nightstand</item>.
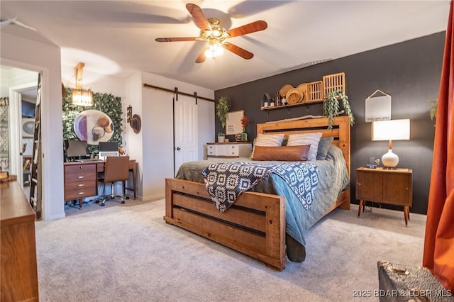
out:
M399 164L399 157L392 152L392 140L409 139L409 119L372 122L372 140L389 140L388 152L382 156L384 167L392 169Z

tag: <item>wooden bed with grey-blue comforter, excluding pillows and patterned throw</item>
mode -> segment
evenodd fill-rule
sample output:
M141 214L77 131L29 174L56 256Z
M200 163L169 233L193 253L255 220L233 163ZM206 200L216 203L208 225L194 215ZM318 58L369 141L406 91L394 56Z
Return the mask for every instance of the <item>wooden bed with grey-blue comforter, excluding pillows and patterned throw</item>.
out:
M313 162L319 167L321 181L309 210L304 211L294 201L297 197L281 184L282 179L269 174L253 189L240 194L233 206L218 211L201 182L199 171L211 162L248 162L248 158L216 159L188 163L193 166L192 172L186 172L182 166L177 177L166 179L164 220L259 259L277 270L284 269L287 256L291 261L304 260L304 232L335 208L350 209L350 123L347 116L341 116L334 118L333 129L328 130L327 125L328 118L257 125L258 134L283 133L288 138L291 134L318 132L323 138L334 138L333 147L328 150L328 160ZM337 163L334 169L343 174L343 179L334 189L330 181L335 181L338 176L324 169L332 161ZM194 173L194 169L197 172ZM334 179L323 181L329 174L333 174ZM331 196L321 195L330 190Z

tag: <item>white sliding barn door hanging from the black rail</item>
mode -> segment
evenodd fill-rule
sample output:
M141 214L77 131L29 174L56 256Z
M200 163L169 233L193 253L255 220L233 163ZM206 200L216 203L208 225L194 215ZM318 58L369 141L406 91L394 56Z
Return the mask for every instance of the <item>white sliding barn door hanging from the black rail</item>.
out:
M197 105L194 97L178 96L175 104L175 175L184 162L197 159Z

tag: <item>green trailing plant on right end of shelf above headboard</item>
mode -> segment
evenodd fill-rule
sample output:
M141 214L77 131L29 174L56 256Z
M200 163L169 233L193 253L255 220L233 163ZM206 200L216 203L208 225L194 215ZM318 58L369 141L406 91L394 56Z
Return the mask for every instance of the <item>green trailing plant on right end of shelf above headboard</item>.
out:
M333 128L333 118L343 113L343 111L339 111L341 101L343 110L350 119L350 125L355 123L350 103L348 103L348 96L342 89L337 89L326 94L325 99L323 100L323 116L328 117L328 129Z

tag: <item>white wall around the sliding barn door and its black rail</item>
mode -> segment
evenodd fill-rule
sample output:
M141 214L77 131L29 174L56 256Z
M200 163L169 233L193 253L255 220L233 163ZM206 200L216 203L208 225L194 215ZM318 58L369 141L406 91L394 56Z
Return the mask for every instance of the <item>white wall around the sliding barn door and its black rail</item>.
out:
M165 178L173 177L173 94L157 89L143 88L143 83L179 91L197 92L214 99L214 91L192 84L175 81L156 74L140 72L128 78L126 97L133 113L142 118L142 130L133 133L126 127L128 152L139 164L138 192L143 200L165 196ZM140 92L139 92L140 91ZM199 160L204 157L203 145L214 137L214 102L201 101L199 106Z

